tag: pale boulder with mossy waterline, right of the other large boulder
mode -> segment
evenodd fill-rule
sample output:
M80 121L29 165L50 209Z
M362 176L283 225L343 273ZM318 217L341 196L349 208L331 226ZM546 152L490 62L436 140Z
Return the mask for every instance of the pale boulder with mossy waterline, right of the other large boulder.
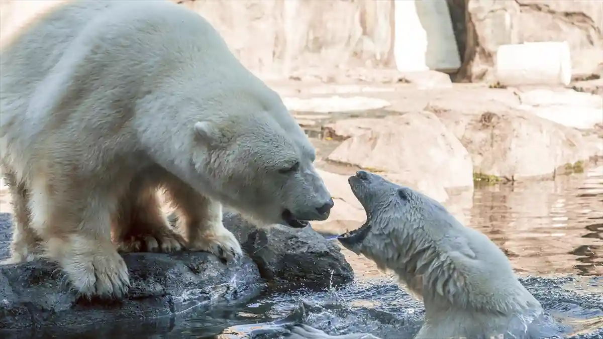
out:
M437 113L471 154L473 171L507 179L552 176L589 158L581 133L520 110L464 115Z

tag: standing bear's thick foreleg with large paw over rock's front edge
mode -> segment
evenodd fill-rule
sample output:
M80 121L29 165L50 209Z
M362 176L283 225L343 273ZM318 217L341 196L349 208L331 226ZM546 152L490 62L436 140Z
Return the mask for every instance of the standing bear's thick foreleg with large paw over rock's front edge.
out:
M52 178L34 177L31 227L44 241L44 255L60 265L78 294L88 299L121 298L130 279L111 241L110 216L116 200L107 185L86 185L87 181L60 171Z

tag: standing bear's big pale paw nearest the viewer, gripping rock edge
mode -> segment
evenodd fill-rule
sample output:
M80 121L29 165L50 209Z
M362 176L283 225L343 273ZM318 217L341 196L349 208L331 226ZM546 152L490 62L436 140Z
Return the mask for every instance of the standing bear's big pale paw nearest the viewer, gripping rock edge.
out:
M78 293L91 299L124 297L130 289L130 277L124 259L112 249L106 252L84 252L60 262Z

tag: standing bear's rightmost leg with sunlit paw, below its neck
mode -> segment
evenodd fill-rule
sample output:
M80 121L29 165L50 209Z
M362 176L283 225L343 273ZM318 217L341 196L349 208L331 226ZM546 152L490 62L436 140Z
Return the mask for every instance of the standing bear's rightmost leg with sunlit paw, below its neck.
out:
M242 255L241 244L222 223L222 205L218 201L175 178L166 186L177 207L177 228L188 240L187 249L211 252L223 261Z

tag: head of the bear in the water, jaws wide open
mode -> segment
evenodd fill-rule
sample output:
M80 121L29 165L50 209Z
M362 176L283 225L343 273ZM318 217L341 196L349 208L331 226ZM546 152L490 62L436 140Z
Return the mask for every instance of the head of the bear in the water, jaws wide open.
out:
M445 223L448 212L440 203L410 188L396 185L377 174L358 171L348 179L352 192L367 213L359 229L338 237L356 254L364 254L380 267L388 266L400 253L412 251L418 239L414 229L421 224Z

